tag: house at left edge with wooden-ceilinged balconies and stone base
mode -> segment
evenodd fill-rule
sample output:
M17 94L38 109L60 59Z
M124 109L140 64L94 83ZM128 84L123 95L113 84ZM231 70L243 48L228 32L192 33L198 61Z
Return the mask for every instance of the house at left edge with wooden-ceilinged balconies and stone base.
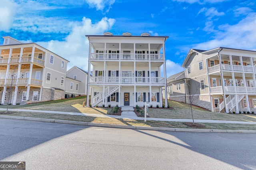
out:
M9 36L3 38L4 44L0 45L1 104L27 104L65 97L69 61L36 43L22 43Z

